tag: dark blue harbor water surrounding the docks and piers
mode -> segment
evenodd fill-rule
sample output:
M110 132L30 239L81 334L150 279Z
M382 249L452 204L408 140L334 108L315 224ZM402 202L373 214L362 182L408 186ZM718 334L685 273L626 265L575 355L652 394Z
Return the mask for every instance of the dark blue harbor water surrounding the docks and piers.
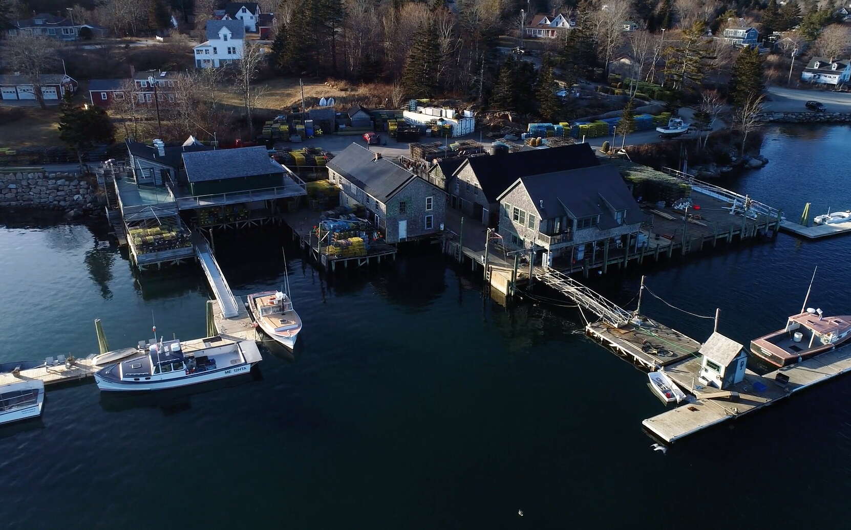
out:
M804 200L851 208L848 175L831 173L837 159L851 162L848 128L802 130L795 140L772 129L772 162L734 185L791 210ZM836 176L816 178L825 174ZM113 347L145 338L151 312L166 335L203 334L208 293L196 265L134 276L98 225L14 218L0 218L0 360L92 352L95 317ZM216 237L235 293L282 282L284 240ZM816 264L812 304L851 313L849 243L781 235L644 271L688 311L721 307L722 332L745 342L799 309ZM851 379L663 456L641 430L664 409L646 377L577 333L571 310L506 310L436 254L334 281L297 249L288 255L306 322L294 359L265 349L254 377L198 394L50 390L41 420L0 428L0 524L848 527ZM626 304L639 277L597 287ZM643 309L695 338L711 331L649 297Z

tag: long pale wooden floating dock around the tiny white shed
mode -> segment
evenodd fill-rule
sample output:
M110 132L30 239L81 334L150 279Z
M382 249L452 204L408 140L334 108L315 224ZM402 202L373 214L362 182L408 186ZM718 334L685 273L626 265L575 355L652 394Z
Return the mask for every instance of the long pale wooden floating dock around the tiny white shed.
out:
M694 390L699 369L700 359L696 357L665 368L665 373L677 385L694 396L687 404L642 422L647 430L665 442L676 442L712 425L768 407L797 391L851 371L851 348L829 351L764 375L745 370L745 380L726 389L738 392L738 398L706 397L707 393L717 392L714 387ZM778 380L779 374L781 379L785 379L784 375L788 377L788 382Z

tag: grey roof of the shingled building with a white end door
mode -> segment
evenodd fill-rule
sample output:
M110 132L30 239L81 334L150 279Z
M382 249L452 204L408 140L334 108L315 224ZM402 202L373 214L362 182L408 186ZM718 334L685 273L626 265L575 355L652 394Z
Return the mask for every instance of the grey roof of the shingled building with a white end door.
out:
M409 180L417 178L386 158L375 160L374 152L354 143L332 158L328 168L380 202L387 202Z

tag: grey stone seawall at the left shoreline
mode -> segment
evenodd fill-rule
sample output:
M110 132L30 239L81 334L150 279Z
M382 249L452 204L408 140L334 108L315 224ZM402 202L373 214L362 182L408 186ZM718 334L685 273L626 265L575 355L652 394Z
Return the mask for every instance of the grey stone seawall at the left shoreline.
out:
M0 173L0 208L44 208L83 214L97 204L94 187L66 173Z

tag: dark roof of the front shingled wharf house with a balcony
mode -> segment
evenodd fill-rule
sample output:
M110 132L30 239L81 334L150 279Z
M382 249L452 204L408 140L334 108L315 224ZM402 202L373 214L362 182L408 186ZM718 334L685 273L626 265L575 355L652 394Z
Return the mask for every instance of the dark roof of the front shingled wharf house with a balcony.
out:
M609 164L528 175L522 177L520 182L538 210L540 219L563 215L582 219L599 215L598 226L601 230L618 226L612 209L626 210L626 222L629 224L644 219L623 177L617 168Z

